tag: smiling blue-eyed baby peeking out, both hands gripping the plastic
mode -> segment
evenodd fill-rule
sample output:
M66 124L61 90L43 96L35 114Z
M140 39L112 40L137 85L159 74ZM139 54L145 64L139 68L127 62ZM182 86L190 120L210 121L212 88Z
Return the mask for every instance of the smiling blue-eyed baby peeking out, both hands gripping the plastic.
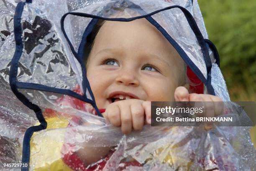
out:
M205 103L205 116L220 115L223 109L213 103L219 97L189 94L184 61L146 19L102 23L86 66L97 107L106 109L102 115L125 134L151 123L151 101L212 102ZM77 151L85 165L110 150L85 147Z

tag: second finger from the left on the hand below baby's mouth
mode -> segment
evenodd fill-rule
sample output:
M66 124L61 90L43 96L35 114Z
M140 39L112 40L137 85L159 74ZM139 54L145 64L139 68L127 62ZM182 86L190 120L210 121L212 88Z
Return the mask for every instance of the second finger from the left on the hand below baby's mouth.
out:
M121 111L121 130L127 134L132 131L132 116L130 105L125 103L119 103L118 105Z

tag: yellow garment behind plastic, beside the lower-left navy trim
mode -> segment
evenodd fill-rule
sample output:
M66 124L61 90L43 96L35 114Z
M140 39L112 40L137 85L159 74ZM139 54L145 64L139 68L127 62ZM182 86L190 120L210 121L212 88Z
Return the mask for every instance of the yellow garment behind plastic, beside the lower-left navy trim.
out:
M46 118L46 130L35 132L30 141L30 170L72 171L61 159L61 147L68 121L65 118Z

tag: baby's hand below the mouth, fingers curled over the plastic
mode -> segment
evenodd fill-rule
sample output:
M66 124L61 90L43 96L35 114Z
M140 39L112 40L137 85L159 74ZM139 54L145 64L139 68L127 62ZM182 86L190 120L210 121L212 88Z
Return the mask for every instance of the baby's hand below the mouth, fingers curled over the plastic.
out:
M132 129L139 131L144 123L151 123L151 102L138 99L117 101L108 105L102 115L113 126L121 126L125 134L130 133Z

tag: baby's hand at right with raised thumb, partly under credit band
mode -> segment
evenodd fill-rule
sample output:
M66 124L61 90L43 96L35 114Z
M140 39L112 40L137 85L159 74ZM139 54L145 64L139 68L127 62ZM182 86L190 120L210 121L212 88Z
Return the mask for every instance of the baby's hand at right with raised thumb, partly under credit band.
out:
M201 116L214 117L219 116L223 113L224 104L221 98L212 96L209 94L189 94L186 88L177 87L174 92L175 101L199 101L205 106L205 112ZM207 103L204 103L207 102ZM197 114L198 115L198 114ZM212 128L212 123L206 122L205 129L209 130Z

